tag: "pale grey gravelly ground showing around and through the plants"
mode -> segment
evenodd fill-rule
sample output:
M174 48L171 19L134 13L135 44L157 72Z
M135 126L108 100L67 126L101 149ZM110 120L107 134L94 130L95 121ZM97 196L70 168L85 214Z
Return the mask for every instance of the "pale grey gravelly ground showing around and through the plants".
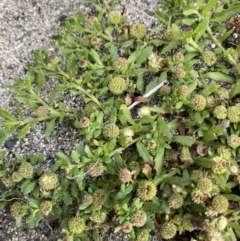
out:
M94 2L94 1L93 1ZM123 0L117 10L124 13L129 24L144 22L149 31L156 24L154 11L157 0ZM0 103L1 107L14 111L13 94L6 85L13 84L14 78L25 78L26 64L32 62L33 52L46 48L54 52L51 35L61 32L61 21L65 16L74 16L79 10L91 16L93 4L82 0L1 0L0 2ZM61 21L59 21L59 19ZM80 100L71 96L73 104L81 104ZM26 113L27 113L26 109ZM7 158L14 160L14 153L27 154L44 153L45 169L56 159L56 152L69 154L74 144L81 142L77 132L68 122L56 125L53 134L44 136L45 124L37 125L24 139L16 140L14 136L8 139L3 150ZM1 150L1 149L0 149ZM1 193L0 193L1 195ZM34 229L16 228L15 220L5 212L0 211L0 240L57 240L60 236L59 225L52 222L49 225L40 224ZM126 235L118 236L109 233L104 240L128 240ZM157 239L155 239L157 240ZM159 239L158 239L159 240Z

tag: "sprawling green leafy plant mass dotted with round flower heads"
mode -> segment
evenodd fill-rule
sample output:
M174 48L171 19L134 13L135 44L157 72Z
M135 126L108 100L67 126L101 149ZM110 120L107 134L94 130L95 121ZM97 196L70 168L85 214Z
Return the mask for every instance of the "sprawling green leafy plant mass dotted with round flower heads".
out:
M54 216L64 240L100 240L106 224L137 241L240 239L240 46L228 41L238 34L240 4L164 1L158 34L149 36L104 3L52 37L58 56L35 53L28 77L11 86L17 114L0 109L1 144L42 121L49 136L68 119L84 145L57 153L48 172L41 153L10 162L2 152L0 208L10 207L18 226ZM51 79L54 90L43 98ZM67 109L62 93L84 106ZM133 101L139 106L131 109Z

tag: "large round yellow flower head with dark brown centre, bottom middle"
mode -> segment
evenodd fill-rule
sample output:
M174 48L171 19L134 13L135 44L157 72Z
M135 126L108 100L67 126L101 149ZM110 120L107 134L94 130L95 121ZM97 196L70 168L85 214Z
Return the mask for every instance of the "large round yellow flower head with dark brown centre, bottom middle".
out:
M157 188L151 181L142 181L137 188L137 196L143 201L152 200L157 194Z

